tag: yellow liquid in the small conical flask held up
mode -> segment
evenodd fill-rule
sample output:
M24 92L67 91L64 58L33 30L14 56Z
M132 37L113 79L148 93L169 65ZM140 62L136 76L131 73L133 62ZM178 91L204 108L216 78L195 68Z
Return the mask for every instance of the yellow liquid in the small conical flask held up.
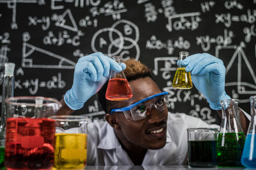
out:
M191 89L193 84L190 72L186 72L185 68L177 68L172 86L177 89Z

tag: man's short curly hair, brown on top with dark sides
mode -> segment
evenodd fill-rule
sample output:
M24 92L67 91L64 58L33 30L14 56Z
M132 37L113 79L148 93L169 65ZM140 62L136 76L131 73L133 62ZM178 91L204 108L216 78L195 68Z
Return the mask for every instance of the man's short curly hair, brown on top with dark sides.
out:
M125 63L126 68L124 70L125 76L127 81L134 81L136 79L140 79L143 77L151 77L150 75L150 68L148 68L146 65L143 65L140 61L136 61L135 59L129 59L127 61L122 61ZM102 109L109 113L111 109L113 109L113 105L115 102L112 102L110 100L107 100L105 95L108 88L108 81L102 86L102 88L98 91L97 97L100 102L100 105Z

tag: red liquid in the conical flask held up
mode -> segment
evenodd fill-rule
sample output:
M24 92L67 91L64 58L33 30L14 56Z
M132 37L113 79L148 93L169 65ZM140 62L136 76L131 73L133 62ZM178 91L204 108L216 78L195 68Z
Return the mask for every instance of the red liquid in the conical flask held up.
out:
M132 97L132 91L127 79L110 79L106 98L108 100L120 101Z

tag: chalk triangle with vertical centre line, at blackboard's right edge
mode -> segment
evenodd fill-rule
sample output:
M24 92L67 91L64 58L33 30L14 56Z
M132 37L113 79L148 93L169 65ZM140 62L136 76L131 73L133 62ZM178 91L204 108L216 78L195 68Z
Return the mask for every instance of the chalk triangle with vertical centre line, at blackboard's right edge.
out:
M256 75L255 67L252 67L249 59L243 50L243 45L232 47L232 50L226 54L230 55L230 58L225 56L223 59L226 66L226 85L237 86L237 93L243 95L250 95L256 93ZM222 59L222 58L221 58Z

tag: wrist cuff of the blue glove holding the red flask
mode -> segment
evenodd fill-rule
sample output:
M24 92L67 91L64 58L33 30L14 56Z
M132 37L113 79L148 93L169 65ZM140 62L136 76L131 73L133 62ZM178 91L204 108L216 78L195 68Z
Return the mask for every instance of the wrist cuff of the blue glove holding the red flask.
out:
M68 107L74 111L81 109L84 106L84 102L81 102L74 97L72 89L68 89L65 93L64 100Z

